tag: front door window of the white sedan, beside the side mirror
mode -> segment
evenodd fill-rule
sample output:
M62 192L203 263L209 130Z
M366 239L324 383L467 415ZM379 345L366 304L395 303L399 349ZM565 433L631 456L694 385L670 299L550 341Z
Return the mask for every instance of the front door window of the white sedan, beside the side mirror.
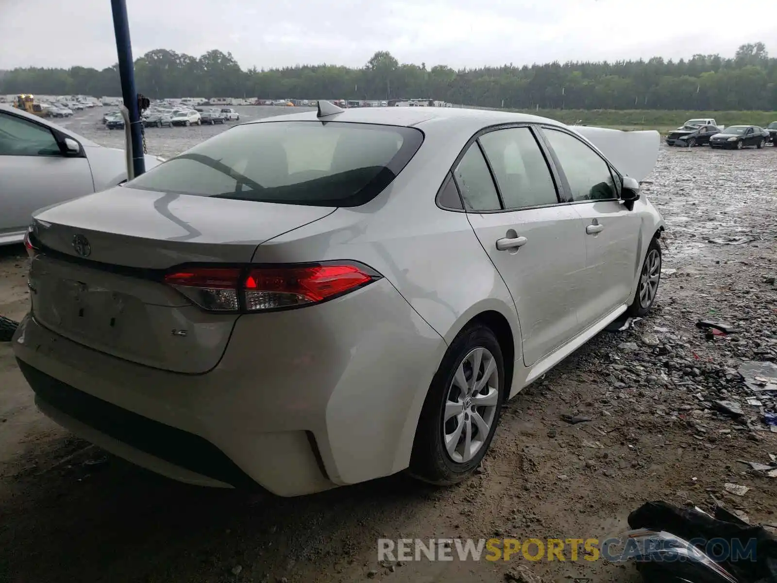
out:
M546 128L545 135L570 184L573 201L607 201L617 198L610 167L597 152L563 131Z

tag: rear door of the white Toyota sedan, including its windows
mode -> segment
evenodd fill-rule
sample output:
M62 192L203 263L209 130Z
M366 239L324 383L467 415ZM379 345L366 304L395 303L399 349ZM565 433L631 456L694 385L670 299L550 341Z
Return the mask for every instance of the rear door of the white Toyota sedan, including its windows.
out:
M515 302L524 364L533 365L580 330L575 290L585 246L579 217L559 198L531 127L481 135L454 176L472 229Z

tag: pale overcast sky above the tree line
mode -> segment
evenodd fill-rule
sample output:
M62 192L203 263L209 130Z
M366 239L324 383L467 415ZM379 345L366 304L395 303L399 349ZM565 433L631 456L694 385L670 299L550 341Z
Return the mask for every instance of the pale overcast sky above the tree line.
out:
M218 48L242 68L361 67L375 51L453 68L553 60L777 56L774 0L127 0L133 56ZM0 69L117 61L110 0L0 0Z

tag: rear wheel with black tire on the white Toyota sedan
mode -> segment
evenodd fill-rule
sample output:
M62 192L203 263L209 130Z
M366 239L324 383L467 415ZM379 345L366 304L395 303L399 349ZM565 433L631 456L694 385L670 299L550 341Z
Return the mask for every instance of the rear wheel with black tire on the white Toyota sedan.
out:
M490 328L473 323L458 333L423 403L410 457L413 477L450 486L472 475L497 429L505 380Z

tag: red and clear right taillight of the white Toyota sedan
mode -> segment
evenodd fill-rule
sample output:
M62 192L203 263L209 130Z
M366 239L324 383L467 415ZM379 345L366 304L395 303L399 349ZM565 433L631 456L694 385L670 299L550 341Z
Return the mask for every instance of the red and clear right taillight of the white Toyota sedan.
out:
M193 267L165 283L209 312L263 312L324 302L381 275L354 262L275 267Z

